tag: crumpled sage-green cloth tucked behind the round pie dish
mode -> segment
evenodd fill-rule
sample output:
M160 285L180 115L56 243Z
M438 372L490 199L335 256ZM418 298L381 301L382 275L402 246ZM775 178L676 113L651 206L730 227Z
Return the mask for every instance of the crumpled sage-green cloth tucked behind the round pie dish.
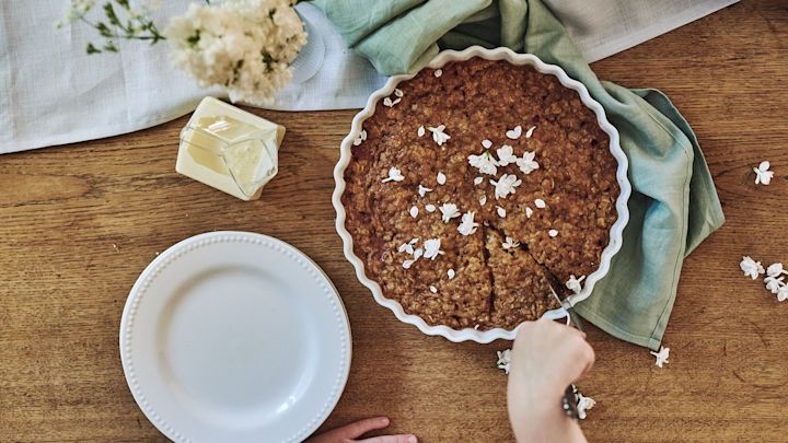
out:
M725 222L697 139L664 94L600 81L541 0L314 4L385 74L416 71L442 48L508 46L584 83L621 133L633 195L622 249L577 312L615 337L660 346L684 257Z

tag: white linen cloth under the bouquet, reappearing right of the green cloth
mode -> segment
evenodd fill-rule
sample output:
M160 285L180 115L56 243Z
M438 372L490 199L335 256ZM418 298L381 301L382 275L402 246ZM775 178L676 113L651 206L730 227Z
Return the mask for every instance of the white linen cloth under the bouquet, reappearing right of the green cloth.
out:
M589 61L607 57L738 0L546 0ZM190 0L155 11L160 28ZM194 110L206 95L172 68L167 45L120 42L119 53L88 56L97 33L84 25L54 28L66 1L0 1L0 153L131 132ZM362 107L385 78L345 47L323 13L297 9L321 34L325 57L310 80L281 90L269 108Z

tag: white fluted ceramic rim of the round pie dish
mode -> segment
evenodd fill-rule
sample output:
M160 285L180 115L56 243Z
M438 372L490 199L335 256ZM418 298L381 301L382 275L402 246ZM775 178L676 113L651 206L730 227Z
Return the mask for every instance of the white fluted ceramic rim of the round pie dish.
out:
M629 195L631 193L631 186L629 184L629 180L627 179L628 161L626 155L624 154L624 151L622 151L621 145L618 144L618 131L615 129L615 127L613 127L613 125L610 124L610 121L607 121L602 105L600 105L599 102L591 97L588 89L582 83L569 78L569 75L567 75L567 73L560 67L555 65L547 65L534 55L517 54L509 48L486 49L480 46L472 46L462 51L441 51L440 54L438 54L438 56L436 56L434 59L432 59L432 61L427 65L427 67L437 69L452 61L463 61L474 57L479 57L487 60L507 60L512 65L528 65L537 70L538 72L555 75L564 86L578 92L582 103L594 112L600 127L610 137L610 151L618 162L618 168L616 171L616 179L621 188L621 194L618 195L618 199L616 200L616 211L618 217L615 223L613 223L613 226L611 228L610 243L602 252L600 267L594 272L591 272L589 276L586 277L582 291L569 296L568 300L573 305L580 301L588 299L593 292L594 284L605 275L607 275L611 259L621 249L622 233L627 222L629 221L627 200L629 199ZM334 179L336 182L336 188L334 189L332 201L337 212L336 229L339 233L339 236L343 238L345 256L356 269L356 276L358 277L359 281L361 281L363 285L366 285L370 289L370 291L372 291L374 300L380 305L390 308L401 322L416 326L424 334L429 336L441 336L447 338L448 340L455 342L473 340L480 343L488 343L497 339L512 340L517 335L518 328L511 330L502 328L494 328L488 330L476 330L472 328L453 329L449 326L443 325L428 325L420 317L405 313L399 303L394 300L386 299L383 295L380 285L372 279L367 277L364 272L363 261L361 261L361 259L354 253L354 241L352 236L345 228L345 219L347 217L347 213L341 202L341 195L345 193L346 186L345 170L351 160L351 149L354 145L352 142L359 137L363 121L374 114L378 103L384 97L392 95L394 89L399 82L409 80L415 75L416 74L394 75L389 79L389 81L383 85L383 88L373 92L372 95L369 97L369 101L367 102L367 106L364 106L364 108L361 109L361 112L359 112L354 118L352 125L350 127L350 133L348 133L348 136L345 137L341 142L341 155L339 158L339 161L337 162L336 167L334 168ZM563 308L559 308L548 311L544 314L544 316L548 318L560 318L566 316L566 313Z

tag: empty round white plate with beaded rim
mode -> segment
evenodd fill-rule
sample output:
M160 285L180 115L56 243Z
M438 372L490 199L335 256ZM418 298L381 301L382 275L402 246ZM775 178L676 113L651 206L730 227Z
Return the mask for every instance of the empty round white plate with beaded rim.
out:
M246 232L172 246L142 271L120 320L135 400L175 442L299 442L350 369L350 326L303 253Z

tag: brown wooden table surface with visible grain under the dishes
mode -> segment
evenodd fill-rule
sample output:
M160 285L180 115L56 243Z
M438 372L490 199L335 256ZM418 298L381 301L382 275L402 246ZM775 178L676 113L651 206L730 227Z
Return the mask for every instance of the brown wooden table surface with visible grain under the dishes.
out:
M695 128L727 215L687 260L664 343L670 364L590 328L592 441L785 441L788 303L739 271L788 264L788 7L742 2L596 62L603 79L667 92ZM201 232L262 232L332 278L354 362L325 427L387 415L424 442L511 441L508 342L426 337L376 305L334 231L332 170L354 110L253 110L287 126L278 177L242 202L174 171L186 117L148 130L0 156L0 441L165 440L118 355L124 302L158 252ZM767 187L752 165L770 160Z

